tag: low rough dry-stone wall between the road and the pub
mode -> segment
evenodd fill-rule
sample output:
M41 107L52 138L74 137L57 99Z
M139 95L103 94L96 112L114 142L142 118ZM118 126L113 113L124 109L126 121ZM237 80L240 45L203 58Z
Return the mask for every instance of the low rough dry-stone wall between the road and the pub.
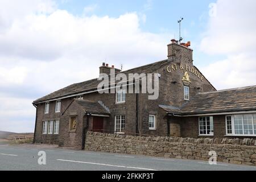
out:
M85 150L196 160L208 160L209 151L216 151L218 162L256 166L255 139L133 137L88 132Z

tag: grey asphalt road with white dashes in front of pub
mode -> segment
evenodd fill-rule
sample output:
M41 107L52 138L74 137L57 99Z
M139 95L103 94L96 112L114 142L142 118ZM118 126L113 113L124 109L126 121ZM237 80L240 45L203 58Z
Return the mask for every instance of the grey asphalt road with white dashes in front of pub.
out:
M46 152L46 165L39 165L39 151ZM0 143L0 170L77 170L77 171L256 171L256 166L226 163L210 165L199 160L166 159L138 155L109 154L104 152L75 151L60 148L8 146Z

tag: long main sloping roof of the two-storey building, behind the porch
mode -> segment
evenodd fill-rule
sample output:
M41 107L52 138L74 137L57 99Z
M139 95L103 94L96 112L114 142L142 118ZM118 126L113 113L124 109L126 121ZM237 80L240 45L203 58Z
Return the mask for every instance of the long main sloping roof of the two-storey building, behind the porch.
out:
M168 64L169 61L172 61L172 59L162 60L162 61L158 61L155 63L143 65L142 67L129 69L127 71L123 71L120 73L125 73L125 74L128 74L128 73L152 73L155 70L162 67L163 65ZM71 96L72 94L79 94L79 93L83 93L83 92L89 92L92 90L96 90L97 86L100 82L101 81L98 81L97 78L94 78L92 80L80 82L77 84L72 84L63 89L57 90L56 92L50 93L47 96L39 98L38 100L35 100L33 103L36 104L39 102L54 100L54 99L65 97L65 96Z

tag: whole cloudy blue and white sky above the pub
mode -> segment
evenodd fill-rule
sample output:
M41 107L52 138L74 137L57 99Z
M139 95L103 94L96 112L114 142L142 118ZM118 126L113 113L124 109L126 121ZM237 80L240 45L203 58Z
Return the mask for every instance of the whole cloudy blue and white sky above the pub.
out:
M191 41L197 68L219 90L256 85L254 0L0 0L0 130L34 132L32 101L98 76L167 58Z

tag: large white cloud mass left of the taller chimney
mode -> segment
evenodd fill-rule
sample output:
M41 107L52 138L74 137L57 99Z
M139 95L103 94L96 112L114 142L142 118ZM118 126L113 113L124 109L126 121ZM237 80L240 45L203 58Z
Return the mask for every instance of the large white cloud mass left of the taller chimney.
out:
M143 32L140 23L137 13L74 16L50 0L1 1L1 130L34 131L31 102L97 77L102 62L129 69L165 59L172 34Z

